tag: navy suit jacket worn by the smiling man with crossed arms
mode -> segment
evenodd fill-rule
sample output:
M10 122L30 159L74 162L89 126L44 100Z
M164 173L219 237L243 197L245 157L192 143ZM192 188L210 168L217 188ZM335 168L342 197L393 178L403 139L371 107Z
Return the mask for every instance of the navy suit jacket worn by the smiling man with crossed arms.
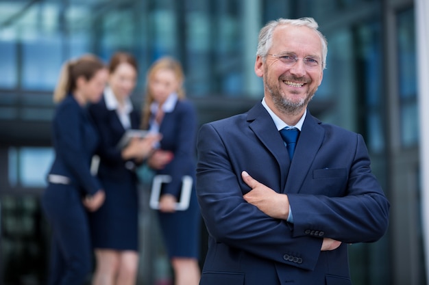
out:
M261 103L199 131L197 196L210 234L201 285L349 285L347 243L377 241L389 202L371 174L363 137L307 112L293 162ZM246 170L287 193L294 223L243 195ZM343 242L321 252L323 238Z

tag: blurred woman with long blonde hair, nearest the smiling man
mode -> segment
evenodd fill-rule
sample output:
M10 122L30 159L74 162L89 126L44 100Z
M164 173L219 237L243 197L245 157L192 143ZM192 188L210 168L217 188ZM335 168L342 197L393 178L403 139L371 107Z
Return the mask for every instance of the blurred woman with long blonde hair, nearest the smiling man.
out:
M159 200L160 227L173 266L175 285L197 285L200 270L200 214L193 182L191 200L185 211L176 211L182 178L195 181L196 112L185 99L184 73L171 57L158 59L147 74L142 128L162 135L159 148L148 159L156 174L171 176Z

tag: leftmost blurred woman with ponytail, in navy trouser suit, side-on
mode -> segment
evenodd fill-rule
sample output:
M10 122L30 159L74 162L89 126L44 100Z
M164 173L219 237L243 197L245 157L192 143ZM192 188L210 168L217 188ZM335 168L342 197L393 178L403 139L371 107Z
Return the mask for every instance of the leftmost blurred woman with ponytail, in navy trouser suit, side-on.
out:
M97 210L105 194L90 174L99 138L86 105L100 99L107 76L97 57L85 55L64 64L54 92L58 103L52 121L56 157L42 195L52 230L50 285L84 284L93 269L86 209Z

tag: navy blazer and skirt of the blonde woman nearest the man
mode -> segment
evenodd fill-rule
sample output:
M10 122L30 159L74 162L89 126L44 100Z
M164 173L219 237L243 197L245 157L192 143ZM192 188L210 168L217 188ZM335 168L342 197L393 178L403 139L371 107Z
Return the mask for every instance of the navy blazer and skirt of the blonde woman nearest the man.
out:
M175 195L179 200L183 176L191 176L195 181L197 114L192 103L177 100L173 111L164 113L159 131L162 134L160 148L173 152L174 158L163 169L156 171L156 174L171 176L171 182L163 185L162 193ZM195 183L192 185L186 211L158 211L158 217L169 258L199 258L201 216Z

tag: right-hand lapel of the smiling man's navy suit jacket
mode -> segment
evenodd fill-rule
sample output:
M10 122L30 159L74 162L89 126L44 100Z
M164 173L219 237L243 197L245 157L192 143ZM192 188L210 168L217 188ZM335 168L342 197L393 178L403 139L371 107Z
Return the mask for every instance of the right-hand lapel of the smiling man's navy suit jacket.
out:
M288 178L284 187L284 193L298 193L302 183L308 176L308 171L321 147L325 131L319 122L307 111L306 120L299 135L295 154Z

